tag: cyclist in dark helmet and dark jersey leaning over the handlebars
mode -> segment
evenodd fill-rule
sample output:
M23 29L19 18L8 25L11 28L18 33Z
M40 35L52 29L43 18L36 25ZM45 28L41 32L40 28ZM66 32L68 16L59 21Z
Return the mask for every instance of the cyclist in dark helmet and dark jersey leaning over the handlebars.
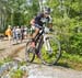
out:
M31 24L35 27L35 32L32 35L32 40L34 41L36 35L39 33L39 30L47 22L49 25L49 30L52 30L50 11L45 10L43 13L37 14L34 19L31 20Z

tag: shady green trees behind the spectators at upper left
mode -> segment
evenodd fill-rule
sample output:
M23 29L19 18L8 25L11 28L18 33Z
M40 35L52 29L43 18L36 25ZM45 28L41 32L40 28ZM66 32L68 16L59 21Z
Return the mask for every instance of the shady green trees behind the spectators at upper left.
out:
M38 12L37 0L33 0L32 5L28 5L26 0L0 0L0 18L2 19L1 25L3 29L7 29L9 24L12 26L27 25L33 15Z

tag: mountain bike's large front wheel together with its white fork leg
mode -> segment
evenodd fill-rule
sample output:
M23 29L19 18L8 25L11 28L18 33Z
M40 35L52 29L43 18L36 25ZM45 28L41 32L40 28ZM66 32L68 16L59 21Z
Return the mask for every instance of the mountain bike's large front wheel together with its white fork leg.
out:
M54 65L61 56L60 43L54 36L46 36L42 46L42 60L46 65Z

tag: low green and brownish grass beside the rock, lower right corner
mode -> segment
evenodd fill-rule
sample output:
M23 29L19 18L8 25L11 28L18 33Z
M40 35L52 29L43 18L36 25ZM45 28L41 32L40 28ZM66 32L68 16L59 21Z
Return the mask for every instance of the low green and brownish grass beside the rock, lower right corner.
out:
M82 57L80 55L62 53L62 57L58 62L58 65L82 70Z

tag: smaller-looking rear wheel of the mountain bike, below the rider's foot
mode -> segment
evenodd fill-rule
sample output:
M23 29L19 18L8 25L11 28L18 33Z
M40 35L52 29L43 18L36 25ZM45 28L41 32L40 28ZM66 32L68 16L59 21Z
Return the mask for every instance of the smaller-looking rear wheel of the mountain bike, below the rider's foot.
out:
M26 43L26 48L25 48L25 59L28 63L32 63L35 58L35 48L31 47L32 41L28 41Z

